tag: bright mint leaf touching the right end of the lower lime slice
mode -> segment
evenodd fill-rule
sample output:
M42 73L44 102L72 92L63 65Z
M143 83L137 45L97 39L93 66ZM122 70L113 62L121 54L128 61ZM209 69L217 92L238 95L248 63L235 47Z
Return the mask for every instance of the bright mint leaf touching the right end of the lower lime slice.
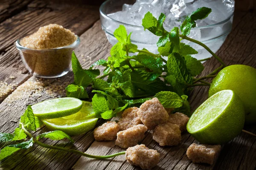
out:
M103 94L95 94L92 100L93 111L96 113L96 116L101 117L101 113L104 113L105 111L109 110L108 102Z

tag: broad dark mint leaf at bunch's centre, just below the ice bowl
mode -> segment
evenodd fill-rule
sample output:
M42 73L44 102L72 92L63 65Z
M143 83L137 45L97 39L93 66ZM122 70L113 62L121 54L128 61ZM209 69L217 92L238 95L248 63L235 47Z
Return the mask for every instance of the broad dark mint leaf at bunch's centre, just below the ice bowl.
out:
M162 68L163 68L163 62L160 60L156 60L153 56L149 55L137 55L134 56L134 58L140 62L142 65L145 66L145 68L149 68L152 71L162 73Z

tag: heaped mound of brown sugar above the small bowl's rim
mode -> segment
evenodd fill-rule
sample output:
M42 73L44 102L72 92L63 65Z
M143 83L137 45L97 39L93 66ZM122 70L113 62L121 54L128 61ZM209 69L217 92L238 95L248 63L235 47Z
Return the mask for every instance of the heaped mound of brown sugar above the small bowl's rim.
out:
M49 24L38 29L34 34L20 40L20 45L32 49L52 49L64 47L76 41L73 32L57 24Z

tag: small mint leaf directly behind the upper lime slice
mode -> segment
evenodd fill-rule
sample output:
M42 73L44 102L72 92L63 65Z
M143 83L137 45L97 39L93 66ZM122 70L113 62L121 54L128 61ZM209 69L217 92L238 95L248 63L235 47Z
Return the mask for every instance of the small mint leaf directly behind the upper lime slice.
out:
M67 97L75 97L78 99L85 99L89 98L86 89L83 86L78 85L68 85L66 88L66 95Z

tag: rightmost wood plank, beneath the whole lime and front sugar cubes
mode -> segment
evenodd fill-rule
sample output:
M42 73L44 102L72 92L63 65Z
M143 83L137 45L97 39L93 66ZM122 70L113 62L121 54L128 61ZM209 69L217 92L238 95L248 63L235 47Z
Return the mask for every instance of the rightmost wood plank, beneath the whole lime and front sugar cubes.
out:
M218 55L224 59L228 65L231 64L245 64L256 68L256 50L255 46L256 33L253 31L256 28L255 13L244 12L236 13L233 31L228 36L224 45L218 51ZM250 28L250 29L249 29ZM246 43L244 43L246 42ZM202 76L209 74L215 68L220 66L219 62L215 59L211 59L204 63L205 70ZM192 111L195 110L202 102L207 99L209 87L196 87L189 98ZM246 130L256 132L255 126L246 126ZM256 152L255 145L256 138L248 136L247 134L241 134L233 141L224 146L221 156L216 162L215 166L208 166L205 164L193 164L186 156L186 150L190 144L196 142L188 133L182 135L182 142L176 147L160 147L154 140L150 133L147 133L143 144L149 148L156 149L160 152L160 163L154 170L212 170L212 169L255 169L256 168L256 156L253 153ZM114 141L113 141L114 144ZM106 143L108 147L111 144ZM93 149L87 150L90 154L113 154L122 151L119 147L113 146L111 150L101 150L102 146L105 146L104 142L93 142ZM98 147L97 147L98 146ZM243 150L246 149L246 152ZM105 152L105 153L104 153ZM92 160L81 157L79 161L73 166L74 170L82 169L95 169L95 170L112 170L112 169L125 169L135 170L140 169L138 167L131 166L125 161L124 156L116 157L106 162L105 160Z

